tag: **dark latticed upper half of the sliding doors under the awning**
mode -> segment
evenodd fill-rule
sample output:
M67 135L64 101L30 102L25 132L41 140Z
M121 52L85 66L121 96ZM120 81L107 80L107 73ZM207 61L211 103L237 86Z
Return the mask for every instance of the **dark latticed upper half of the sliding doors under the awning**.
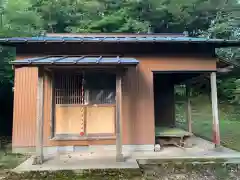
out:
M56 104L115 104L115 75L75 73L55 75Z

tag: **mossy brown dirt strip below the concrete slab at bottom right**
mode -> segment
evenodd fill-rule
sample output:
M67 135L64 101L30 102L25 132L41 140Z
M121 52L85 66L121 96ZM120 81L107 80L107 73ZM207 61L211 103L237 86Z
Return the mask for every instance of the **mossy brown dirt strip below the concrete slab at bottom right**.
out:
M240 166L223 164L146 165L142 167L144 179L153 180L237 180Z

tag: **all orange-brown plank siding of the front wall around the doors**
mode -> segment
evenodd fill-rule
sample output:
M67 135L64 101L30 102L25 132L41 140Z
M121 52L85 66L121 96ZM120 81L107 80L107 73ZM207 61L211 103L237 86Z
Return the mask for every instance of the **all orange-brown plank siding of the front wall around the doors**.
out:
M154 143L154 94L152 71L216 70L216 59L136 57L138 66L123 77L123 144ZM13 147L35 145L37 68L15 68ZM115 144L115 140L53 141L51 137L51 75L44 81L44 145ZM164 86L164 85L163 85Z

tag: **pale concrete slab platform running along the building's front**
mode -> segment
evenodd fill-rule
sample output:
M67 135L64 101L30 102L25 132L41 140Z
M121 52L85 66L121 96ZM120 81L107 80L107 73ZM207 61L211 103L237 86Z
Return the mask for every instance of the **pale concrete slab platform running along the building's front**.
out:
M124 151L124 162L116 162L115 150L98 150L85 152L70 152L45 156L42 165L32 165L33 157L16 167L14 172L23 171L58 171L83 169L137 169L139 164L159 163L163 160L224 160L224 162L240 163L240 152L222 148L214 148L214 144L198 137L190 139L194 145L191 148L167 147L159 152L154 151ZM160 161L159 161L160 160Z

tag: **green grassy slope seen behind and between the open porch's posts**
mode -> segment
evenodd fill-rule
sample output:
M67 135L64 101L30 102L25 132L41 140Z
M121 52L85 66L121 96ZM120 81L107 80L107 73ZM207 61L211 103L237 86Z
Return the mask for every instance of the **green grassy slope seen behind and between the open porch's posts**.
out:
M192 129L195 135L207 140L213 139L211 102L206 97L192 100ZM177 104L177 124L186 129L185 106ZM240 110L233 105L219 105L221 144L240 151Z

